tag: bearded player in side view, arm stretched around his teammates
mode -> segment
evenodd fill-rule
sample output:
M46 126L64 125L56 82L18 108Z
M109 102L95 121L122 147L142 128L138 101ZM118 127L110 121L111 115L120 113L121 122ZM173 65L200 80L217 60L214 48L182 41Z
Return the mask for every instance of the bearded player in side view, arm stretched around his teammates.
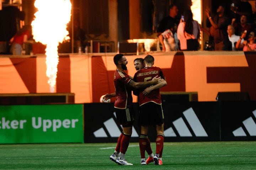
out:
M132 108L132 88L145 88L157 84L161 78L154 77L151 81L136 83L127 75L124 70L127 70L128 61L123 54L114 56L114 64L116 72L114 73L114 86L116 89L116 101L114 110L118 124L122 125L123 132L117 140L117 146L110 159L119 165L133 165L125 159L125 154L129 146L130 137L132 135L132 126L134 122L134 110Z

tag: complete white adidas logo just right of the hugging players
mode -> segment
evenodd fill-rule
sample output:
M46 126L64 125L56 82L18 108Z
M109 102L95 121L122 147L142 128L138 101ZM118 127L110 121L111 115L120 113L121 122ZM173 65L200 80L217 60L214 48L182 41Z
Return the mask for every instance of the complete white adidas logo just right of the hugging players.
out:
M185 119L188 121L188 124L190 125L191 129L193 130L196 137L208 137L206 131L204 130L201 122L199 121L196 113L192 108L187 109L183 112L183 115L185 116ZM174 124L175 129L178 132L178 135L180 137L192 137L190 130L188 129L186 123L181 118L178 118L177 120L172 122ZM164 134L166 137L176 137L174 130L171 128L166 129L164 131Z

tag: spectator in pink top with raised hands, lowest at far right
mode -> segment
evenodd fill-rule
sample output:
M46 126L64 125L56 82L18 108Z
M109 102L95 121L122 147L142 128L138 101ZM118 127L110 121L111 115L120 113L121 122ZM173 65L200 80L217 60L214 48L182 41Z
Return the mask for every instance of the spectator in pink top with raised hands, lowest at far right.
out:
M246 32L242 33L241 38L236 43L236 48L243 48L243 51L256 51L256 44L255 44L255 33L252 31L249 34L248 41L245 40L242 44L241 41L245 38Z

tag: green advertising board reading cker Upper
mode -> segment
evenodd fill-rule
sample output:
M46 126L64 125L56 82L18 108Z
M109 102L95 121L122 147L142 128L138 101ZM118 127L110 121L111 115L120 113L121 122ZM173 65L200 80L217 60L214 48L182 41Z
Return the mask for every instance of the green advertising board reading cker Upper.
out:
M0 143L83 143L83 104L0 106Z

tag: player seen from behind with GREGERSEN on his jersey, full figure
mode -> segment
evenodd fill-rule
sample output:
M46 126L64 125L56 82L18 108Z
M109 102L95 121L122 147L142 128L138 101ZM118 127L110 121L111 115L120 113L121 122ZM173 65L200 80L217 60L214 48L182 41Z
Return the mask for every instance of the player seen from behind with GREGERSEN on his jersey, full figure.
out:
M153 67L154 57L147 55L144 58L145 68L139 70L134 75L134 81L144 82L150 81L153 77L159 76L165 78L162 70L159 67ZM155 165L162 165L161 154L164 146L164 113L162 111L161 96L159 88L165 86L167 83L165 79L161 79L161 82L146 88L144 91L139 92L139 124L141 126L139 146L140 146L140 156L141 164L146 165L150 162L154 162ZM150 147L150 141L148 139L148 127L156 127L156 154L153 158L153 152ZM145 150L149 154L149 158L145 161ZM160 159L159 159L160 158Z

